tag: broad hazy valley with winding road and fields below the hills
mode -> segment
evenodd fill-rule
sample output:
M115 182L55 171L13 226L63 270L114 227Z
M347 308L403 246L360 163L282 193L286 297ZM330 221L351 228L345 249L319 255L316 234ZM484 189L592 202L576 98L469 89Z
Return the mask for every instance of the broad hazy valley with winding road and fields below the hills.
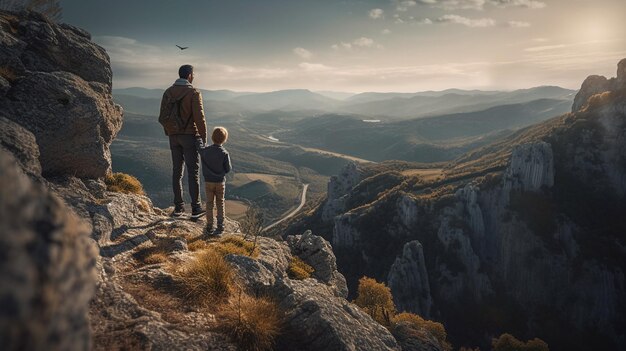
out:
M513 92L451 90L408 96L368 93L344 96L343 100L308 90L202 93L209 129L222 125L230 132L226 148L234 171L227 177L226 194L237 205L227 206L227 213L237 218L246 206L255 205L266 217L266 224L298 206L305 183L309 184L308 201L319 201L326 194L329 177L349 162L452 160L515 129L564 112L572 95L572 91L556 87ZM137 176L156 205L169 207L169 146L156 121L161 94L159 89L114 91L115 101L124 107L125 121L111 151L114 171ZM475 111L499 102L506 105ZM341 112L357 111L354 106L364 103L381 108L390 103L411 106L407 109L414 113L401 114L396 108L385 110L387 114L372 114L376 110L373 107L361 115ZM426 105L431 108L423 109ZM423 116L425 111L443 111L435 106L463 112ZM184 177L183 183L186 181Z

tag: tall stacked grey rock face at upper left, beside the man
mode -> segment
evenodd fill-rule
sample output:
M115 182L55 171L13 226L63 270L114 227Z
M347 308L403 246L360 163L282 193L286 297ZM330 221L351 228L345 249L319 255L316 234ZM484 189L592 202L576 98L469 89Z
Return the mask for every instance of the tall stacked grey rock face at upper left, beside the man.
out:
M20 16L0 12L0 109L46 146L44 176L103 177L122 126L108 55L80 29L32 12Z

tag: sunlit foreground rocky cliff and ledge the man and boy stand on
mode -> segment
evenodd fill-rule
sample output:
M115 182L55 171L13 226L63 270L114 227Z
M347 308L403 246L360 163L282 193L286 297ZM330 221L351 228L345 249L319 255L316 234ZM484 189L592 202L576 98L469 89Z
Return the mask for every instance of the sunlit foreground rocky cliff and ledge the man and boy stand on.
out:
M174 275L219 239L143 195L107 191L122 111L111 100L106 52L88 33L35 13L0 11L0 27L2 349L239 349L242 340L216 318L218 302L190 303ZM225 229L225 240L257 252L224 259L239 303L243 293L276 303L282 324L274 349L400 350L346 300L327 240L305 232L252 241L231 220ZM311 267L310 278L291 277L296 257ZM419 333L429 349L441 349ZM402 342L418 349L419 339L407 335Z

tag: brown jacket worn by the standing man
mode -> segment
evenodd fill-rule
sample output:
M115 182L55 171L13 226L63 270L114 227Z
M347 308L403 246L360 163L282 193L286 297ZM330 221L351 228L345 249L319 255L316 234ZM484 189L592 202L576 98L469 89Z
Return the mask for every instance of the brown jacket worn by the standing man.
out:
M178 82L178 81L177 81ZM187 125L184 131L172 131L165 128L165 135L191 134L199 136L206 143L206 120L204 118L204 107L202 106L202 94L200 90L195 89L191 84L177 85L174 84L165 90L163 99L161 100L161 111L165 109L165 94L171 94L174 98L180 98L185 95L180 104L180 117L183 124ZM192 120L189 120L192 118Z

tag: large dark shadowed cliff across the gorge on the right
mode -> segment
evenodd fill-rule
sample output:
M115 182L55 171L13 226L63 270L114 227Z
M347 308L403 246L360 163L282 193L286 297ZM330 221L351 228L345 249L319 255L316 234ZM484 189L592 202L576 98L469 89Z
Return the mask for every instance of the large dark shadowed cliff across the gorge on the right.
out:
M508 331L557 350L621 349L625 135L622 60L617 77L585 80L572 113L472 151L440 179L417 165L359 166L367 179L347 169L324 221L294 227L326 233L351 291L362 275L388 282L397 306L443 321L456 345Z

